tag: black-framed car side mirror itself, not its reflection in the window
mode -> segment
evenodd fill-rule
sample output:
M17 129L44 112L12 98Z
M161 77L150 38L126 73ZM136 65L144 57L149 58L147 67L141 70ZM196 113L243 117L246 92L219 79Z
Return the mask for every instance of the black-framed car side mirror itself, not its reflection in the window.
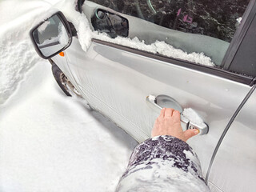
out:
M48 59L70 46L72 32L65 16L58 11L34 26L30 38L39 56Z

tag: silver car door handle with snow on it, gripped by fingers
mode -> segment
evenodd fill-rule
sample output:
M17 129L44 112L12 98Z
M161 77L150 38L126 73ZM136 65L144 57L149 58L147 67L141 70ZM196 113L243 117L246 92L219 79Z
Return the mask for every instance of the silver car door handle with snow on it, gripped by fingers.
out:
M199 130L198 135L207 134L209 127L205 122L193 122L189 118L186 118L182 113L183 109L182 106L178 104L178 102L174 98L170 98L166 95L158 95L154 97L153 95L146 97L146 103L150 106L151 109L155 110L156 112L160 112L162 110L162 106L166 106L168 108L173 108L174 110L178 110L181 113L181 124L183 130L189 129L197 129ZM161 105L161 106L160 106ZM190 109L191 111L192 109ZM194 114L196 112L192 110Z

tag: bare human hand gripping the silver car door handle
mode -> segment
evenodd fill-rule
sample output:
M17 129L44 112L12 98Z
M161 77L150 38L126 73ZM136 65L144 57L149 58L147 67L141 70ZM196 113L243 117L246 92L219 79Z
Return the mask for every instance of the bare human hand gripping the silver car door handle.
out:
M151 137L158 135L170 135L186 142L189 138L192 138L198 133L199 131L196 129L183 131L179 111L170 108L163 108L159 117L154 122Z

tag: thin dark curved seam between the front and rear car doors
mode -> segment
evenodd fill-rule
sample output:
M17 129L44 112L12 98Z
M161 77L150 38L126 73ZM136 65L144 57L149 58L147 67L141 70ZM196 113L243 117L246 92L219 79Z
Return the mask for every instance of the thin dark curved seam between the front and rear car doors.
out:
M206 174L206 182L208 182L209 175L210 175L210 169L211 169L211 166L213 165L214 158L215 158L215 156L216 156L216 154L218 152L219 146L222 144L222 141L223 141L227 131L230 129L231 124L234 122L234 119L237 117L238 113L242 109L242 106L245 105L246 101L248 100L248 98L250 98L250 95L254 92L255 88L256 88L256 84L250 89L248 94L246 94L246 97L242 100L241 104L238 106L238 109L234 112L232 118L230 118L230 122L226 125L226 128L223 131L222 136L218 140L218 144L217 144L217 146L214 149L214 154L212 155L212 157L210 159L210 165L208 167L207 174Z

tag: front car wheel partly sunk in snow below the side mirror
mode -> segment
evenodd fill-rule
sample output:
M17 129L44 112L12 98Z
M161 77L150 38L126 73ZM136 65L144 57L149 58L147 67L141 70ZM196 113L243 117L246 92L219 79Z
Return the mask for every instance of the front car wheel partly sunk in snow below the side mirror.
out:
M82 98L82 95L79 94L78 90L73 86L70 80L62 72L62 70L58 68L56 64L52 65L51 70L56 82L58 83L58 86L67 96L71 97L72 95L77 95L78 97Z

